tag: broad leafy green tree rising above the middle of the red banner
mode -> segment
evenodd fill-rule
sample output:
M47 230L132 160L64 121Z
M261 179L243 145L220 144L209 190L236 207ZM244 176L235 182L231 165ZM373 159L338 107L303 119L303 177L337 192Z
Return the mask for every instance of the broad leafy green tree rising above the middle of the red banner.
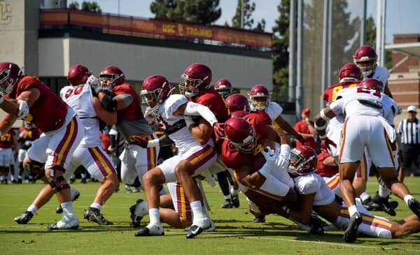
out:
M219 0L155 0L151 12L158 20L209 25L222 15L218 5Z

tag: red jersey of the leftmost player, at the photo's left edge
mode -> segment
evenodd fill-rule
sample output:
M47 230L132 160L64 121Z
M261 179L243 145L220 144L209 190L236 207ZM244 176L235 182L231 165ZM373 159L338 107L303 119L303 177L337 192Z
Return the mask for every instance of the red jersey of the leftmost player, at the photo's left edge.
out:
M29 108L27 120L34 123L43 132L59 129L66 119L69 105L64 103L54 92L51 91L41 80L34 76L25 76L16 84L11 98L18 97L28 89L38 89L38 99Z

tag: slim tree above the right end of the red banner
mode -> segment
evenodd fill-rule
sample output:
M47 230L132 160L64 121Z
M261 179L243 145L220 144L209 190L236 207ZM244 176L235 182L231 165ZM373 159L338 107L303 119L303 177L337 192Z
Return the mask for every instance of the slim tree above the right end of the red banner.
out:
M235 16L232 17L232 27L262 32L265 30L265 20L262 19L253 27L254 20L252 18L252 13L255 10L255 2L250 3L249 1L250 0L238 0ZM241 4L244 5L244 27L241 27Z

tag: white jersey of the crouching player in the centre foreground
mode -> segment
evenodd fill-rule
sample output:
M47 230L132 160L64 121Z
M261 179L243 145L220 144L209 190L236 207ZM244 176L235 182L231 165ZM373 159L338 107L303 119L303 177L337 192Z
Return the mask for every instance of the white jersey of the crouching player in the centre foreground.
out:
M188 103L186 96L181 94L174 94L169 96L165 102L160 105L155 116L156 126L158 129L167 131L168 129L174 128L174 124L176 124L176 122L182 122L184 117L174 116L174 112L184 103ZM197 140L193 138L187 126L183 126L181 129L169 134L169 138L174 141L175 146L178 148L180 154L187 152L191 147L196 145L200 146L200 143L198 143ZM212 139L209 139L209 142L207 143L214 146Z

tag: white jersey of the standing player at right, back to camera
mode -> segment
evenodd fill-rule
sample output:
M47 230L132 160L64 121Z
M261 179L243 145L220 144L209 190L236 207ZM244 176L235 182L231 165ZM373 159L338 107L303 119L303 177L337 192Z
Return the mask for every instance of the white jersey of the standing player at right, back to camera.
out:
M393 124L398 111L393 99L374 89L351 87L340 91L337 98L329 106L336 115L344 114L346 118L352 115L381 116Z

